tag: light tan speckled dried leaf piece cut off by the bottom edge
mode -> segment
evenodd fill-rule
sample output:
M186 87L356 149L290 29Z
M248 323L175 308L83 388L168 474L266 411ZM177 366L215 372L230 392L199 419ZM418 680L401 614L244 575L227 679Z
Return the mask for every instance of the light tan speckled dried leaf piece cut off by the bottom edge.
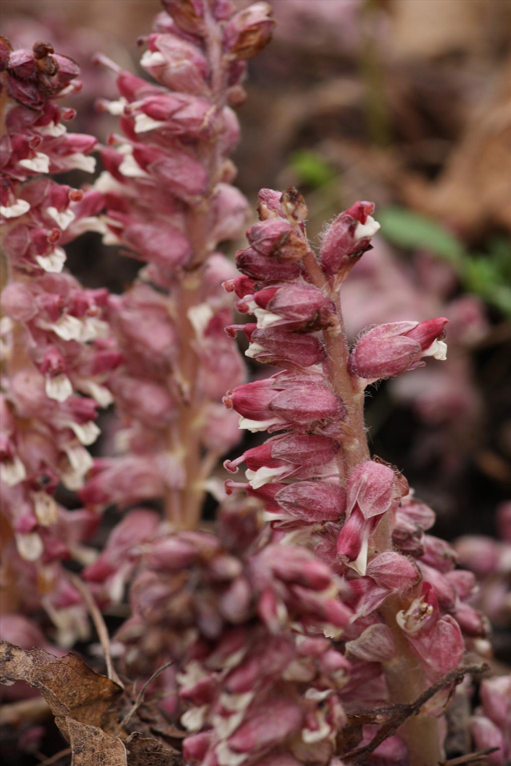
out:
M73 753L71 766L127 766L126 748L119 737L72 718L67 718L66 726Z

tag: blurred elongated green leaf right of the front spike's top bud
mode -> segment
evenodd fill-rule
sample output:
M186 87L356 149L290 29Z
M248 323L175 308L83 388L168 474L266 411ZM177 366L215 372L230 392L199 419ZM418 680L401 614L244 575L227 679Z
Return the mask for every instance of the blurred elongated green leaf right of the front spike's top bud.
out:
M460 266L464 248L446 227L421 213L405 208L383 208L377 215L382 235L407 250L429 250L455 267Z

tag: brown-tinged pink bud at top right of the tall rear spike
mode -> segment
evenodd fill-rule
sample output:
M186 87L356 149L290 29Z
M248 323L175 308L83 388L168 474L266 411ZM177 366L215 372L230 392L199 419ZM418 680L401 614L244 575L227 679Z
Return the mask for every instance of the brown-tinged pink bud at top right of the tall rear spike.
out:
M267 2L254 2L234 14L224 28L224 47L234 58L252 58L270 41L275 21Z

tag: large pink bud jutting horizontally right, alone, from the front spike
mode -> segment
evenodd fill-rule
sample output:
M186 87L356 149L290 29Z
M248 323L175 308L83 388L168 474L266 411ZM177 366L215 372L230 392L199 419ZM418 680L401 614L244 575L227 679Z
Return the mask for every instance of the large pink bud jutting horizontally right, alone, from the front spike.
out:
M349 355L349 372L375 381L421 366L423 356L445 359L447 346L442 338L447 321L439 317L427 322L393 322L370 329Z

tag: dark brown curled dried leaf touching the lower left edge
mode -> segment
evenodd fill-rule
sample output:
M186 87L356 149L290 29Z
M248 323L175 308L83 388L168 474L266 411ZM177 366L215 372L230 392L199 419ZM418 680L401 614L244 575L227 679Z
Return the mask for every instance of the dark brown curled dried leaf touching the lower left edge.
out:
M56 657L42 649L26 651L2 641L0 683L11 686L15 681L25 681L40 690L66 738L68 716L106 732L116 725L113 702L122 689L94 673L77 654Z

